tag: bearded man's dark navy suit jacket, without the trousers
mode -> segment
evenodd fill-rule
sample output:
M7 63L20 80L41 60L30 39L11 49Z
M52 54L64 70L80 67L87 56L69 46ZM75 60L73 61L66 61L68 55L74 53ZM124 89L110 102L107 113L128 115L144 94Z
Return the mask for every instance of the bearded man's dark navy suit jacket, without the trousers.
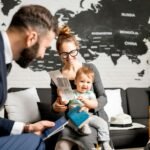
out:
M7 69L4 55L4 42L0 33L0 107L3 107L7 98ZM14 121L0 118L0 136L9 135Z

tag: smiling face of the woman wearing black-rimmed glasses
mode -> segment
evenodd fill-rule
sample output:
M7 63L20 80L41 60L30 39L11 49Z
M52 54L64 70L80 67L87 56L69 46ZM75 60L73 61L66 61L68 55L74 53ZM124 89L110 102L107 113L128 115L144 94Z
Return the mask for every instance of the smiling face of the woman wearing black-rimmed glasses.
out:
M64 64L73 64L77 61L78 48L74 42L64 42L61 46L60 57Z

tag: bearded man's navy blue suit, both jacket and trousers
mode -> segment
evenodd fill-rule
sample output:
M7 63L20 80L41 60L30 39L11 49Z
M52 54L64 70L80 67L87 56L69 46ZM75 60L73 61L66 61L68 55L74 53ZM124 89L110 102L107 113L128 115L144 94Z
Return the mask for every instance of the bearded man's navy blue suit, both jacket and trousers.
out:
M0 33L0 108L7 98L7 69L4 55L4 42ZM6 150L45 150L40 136L35 134L10 135L14 121L0 118L0 149ZM8 135L8 136L7 136Z

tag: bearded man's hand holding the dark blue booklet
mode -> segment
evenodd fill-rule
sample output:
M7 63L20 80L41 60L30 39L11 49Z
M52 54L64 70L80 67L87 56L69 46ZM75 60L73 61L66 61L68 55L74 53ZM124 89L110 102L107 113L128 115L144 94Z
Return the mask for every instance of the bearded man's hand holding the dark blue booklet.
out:
M54 122L43 120L33 124L26 124L24 126L24 132L28 133L32 132L37 135L41 135L44 129L48 127L53 127L54 125L55 125Z

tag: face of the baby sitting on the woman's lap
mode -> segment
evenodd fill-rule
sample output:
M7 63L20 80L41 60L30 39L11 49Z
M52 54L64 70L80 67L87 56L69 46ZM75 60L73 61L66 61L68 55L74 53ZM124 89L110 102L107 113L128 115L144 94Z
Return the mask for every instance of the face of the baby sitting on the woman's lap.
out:
M92 78L90 78L84 73L80 74L76 79L77 91L80 93L84 93L86 91L91 90L92 83L93 83Z

